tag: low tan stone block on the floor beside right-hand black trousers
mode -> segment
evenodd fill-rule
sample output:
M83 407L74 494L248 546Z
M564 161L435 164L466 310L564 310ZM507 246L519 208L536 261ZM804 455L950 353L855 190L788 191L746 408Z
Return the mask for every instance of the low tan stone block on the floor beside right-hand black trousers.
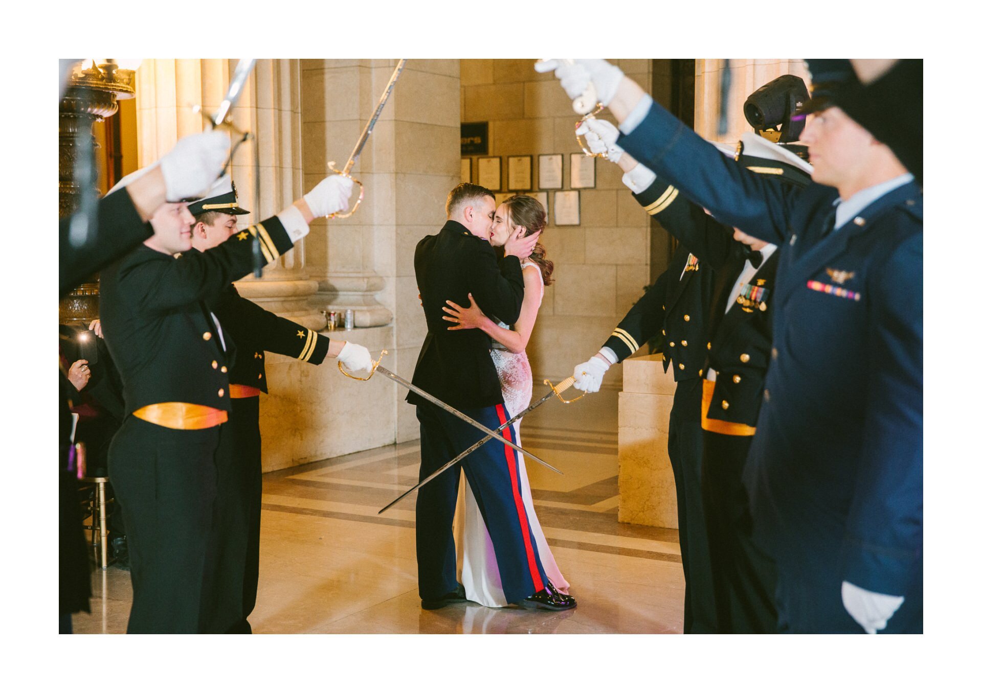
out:
M618 405L621 522L679 529L668 447L674 395L675 381L671 370L663 370L662 354L624 361L624 391Z

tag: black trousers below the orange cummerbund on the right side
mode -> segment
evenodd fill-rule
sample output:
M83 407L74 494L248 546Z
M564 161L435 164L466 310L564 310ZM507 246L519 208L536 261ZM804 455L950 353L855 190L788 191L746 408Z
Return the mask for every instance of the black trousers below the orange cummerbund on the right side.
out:
M702 494L721 633L776 633L777 568L751 539L743 467L753 436L702 432Z

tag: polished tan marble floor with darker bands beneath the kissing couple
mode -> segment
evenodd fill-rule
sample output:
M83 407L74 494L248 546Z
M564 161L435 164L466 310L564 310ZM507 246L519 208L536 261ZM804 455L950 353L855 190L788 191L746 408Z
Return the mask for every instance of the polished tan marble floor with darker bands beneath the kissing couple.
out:
M545 393L537 386L534 397ZM569 612L422 611L416 594L415 494L419 443L348 454L263 478L256 633L680 633L684 580L679 533L622 524L617 400L603 390L570 405L547 402L521 427L522 445L564 471L529 462L535 508L579 606ZM92 573L90 614L76 632L122 633L130 574Z

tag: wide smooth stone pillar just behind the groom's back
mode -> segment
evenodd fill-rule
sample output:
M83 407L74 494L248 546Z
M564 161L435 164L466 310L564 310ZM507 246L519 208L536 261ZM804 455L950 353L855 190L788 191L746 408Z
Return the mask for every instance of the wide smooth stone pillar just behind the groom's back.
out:
M330 173L328 161L344 167L396 62L301 61L306 186ZM364 202L355 216L327 222L326 234L312 227L307 244L320 305L355 310L358 329L342 339L386 344L386 365L404 377L426 335L413 249L443 226L447 193L460 182L460 93L460 61L409 60L352 171L365 186ZM396 440L417 438L405 392L390 397Z

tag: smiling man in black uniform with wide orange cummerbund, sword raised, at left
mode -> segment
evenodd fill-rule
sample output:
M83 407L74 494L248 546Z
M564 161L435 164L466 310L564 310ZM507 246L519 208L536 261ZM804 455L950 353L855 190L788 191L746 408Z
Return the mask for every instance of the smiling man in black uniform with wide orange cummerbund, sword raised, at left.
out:
M200 253L188 252L187 202L165 203L150 218L153 236L102 272L102 331L126 400L109 473L129 532L128 632L198 632L213 589L234 345L206 301L252 269L253 238L274 262L313 219L346 209L352 185L329 176L276 216Z

